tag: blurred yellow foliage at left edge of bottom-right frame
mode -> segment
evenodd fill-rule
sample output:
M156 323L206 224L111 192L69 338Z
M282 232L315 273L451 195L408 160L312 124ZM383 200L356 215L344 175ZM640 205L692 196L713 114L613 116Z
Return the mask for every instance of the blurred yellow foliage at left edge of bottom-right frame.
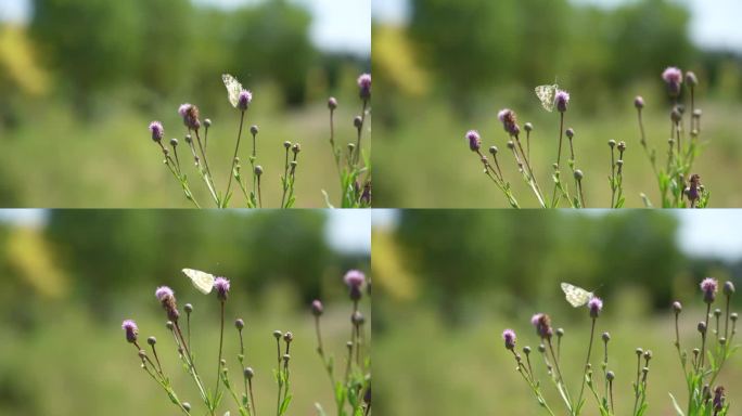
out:
M418 284L405 268L405 255L394 240L394 235L374 230L371 239L373 284L381 285L384 291L397 300L413 300Z

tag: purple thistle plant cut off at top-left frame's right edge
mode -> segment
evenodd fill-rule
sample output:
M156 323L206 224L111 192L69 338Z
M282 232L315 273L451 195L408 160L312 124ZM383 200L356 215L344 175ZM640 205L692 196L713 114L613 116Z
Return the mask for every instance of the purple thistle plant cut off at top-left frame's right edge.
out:
M371 206L371 158L361 150L363 129L369 125L368 116L371 114L371 74L362 74L358 77L358 96L361 101L360 115L353 119L356 130L356 141L346 145L347 151L335 144L335 109L337 99L328 99L330 109L330 148L335 161L335 168L341 186L341 208L368 208ZM324 200L328 207L334 208L330 196L323 190Z

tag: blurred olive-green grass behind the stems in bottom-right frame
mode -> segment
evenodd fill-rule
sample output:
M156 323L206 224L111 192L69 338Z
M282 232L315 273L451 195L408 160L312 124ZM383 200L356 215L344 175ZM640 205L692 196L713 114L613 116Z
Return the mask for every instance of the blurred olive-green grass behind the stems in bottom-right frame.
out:
M516 373L513 356L503 348L500 337L504 328L512 327L519 336L519 349L530 344L535 351L537 337L528 323L530 315L522 313L506 317L497 313L476 313L468 315L465 323L450 326L424 302L388 304L376 307L376 310L383 310L383 316L376 314L374 326L378 412L408 416L546 414ZM683 311L683 315L682 342L686 346L698 343L694 320L703 312ZM561 367L574 390L580 378L590 328L587 312L567 316L570 321L565 321L565 313L552 314L554 325L563 325L566 330ZM629 414L634 405L631 381L636 377L637 347L654 353L650 363L648 414L675 415L668 392L680 402L687 399L682 370L673 347L671 323L669 312L665 315L641 314L606 304L605 316L599 320L597 330L598 334L609 330L612 337L609 369L616 374L617 414ZM602 342L599 340L594 347L599 348L593 350L593 353L598 352L593 355L593 368L600 368ZM539 358L538 353L535 358ZM540 360L538 364L542 364ZM534 365L538 367L536 372L552 410L558 415L565 414L543 366L537 365L536 361ZM742 415L742 356L739 353L728 363L719 382L727 388L732 402L729 415ZM594 402L590 401L585 414L597 415Z

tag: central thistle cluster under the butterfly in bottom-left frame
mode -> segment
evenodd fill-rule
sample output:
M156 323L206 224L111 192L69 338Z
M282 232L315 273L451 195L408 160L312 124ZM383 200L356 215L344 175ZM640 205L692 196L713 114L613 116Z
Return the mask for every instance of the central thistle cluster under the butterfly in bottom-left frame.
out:
M220 314L219 314L219 353L217 356L217 370L214 377L214 388L209 389L207 386L207 380L204 377L203 365L199 361L199 366L196 367L196 354L192 350L191 343L191 315L194 313L194 307L191 303L187 303L183 307L183 312L186 313L186 318L182 318L180 309L177 306L176 296L172 289L167 286L161 286L155 291L155 297L163 306L167 322L165 327L169 333L168 337L172 338L172 343L168 342L166 348L174 348L178 358L182 364L182 368L193 380L195 387L199 390L199 399L205 407L205 413L203 411L196 411L195 406L189 401L184 401L179 396L172 386L170 376L168 376L168 368L165 368L161 362L161 354L164 350L159 347L157 339L155 337L149 337L146 343L150 347L149 351L146 347L139 342L139 327L132 320L124 321L121 328L124 329L127 342L131 343L136 350L139 360L141 361L142 369L165 391L168 399L178 410L184 415L194 414L206 414L206 415L225 415L228 416L230 412L221 413L221 408L226 407L222 403L225 396L231 398L234 402L234 407L236 407L238 413L241 416L255 416L255 396L253 393L253 382L255 380L256 374L252 366L250 366L250 361L245 353L245 344L243 338L243 332L245 328L245 323L242 318L236 318L234 321L234 327L236 329L236 336L240 340L240 353L235 358L235 362L240 365L240 378L241 381L233 384L229 367L227 366L227 359L222 356L223 351L223 338L225 338L225 310L227 299L230 291L230 282L223 277L216 277L214 280L214 292L219 302ZM210 291L210 290L209 290ZM186 322L183 322L186 321ZM292 393L291 393L291 379L290 379L290 347L294 337L291 332L281 333L276 330L272 334L276 339L277 346L277 365L273 369L274 380L278 386L278 399L276 404L276 415L285 415L289 411L289 405L291 404ZM266 338L268 336L266 335Z

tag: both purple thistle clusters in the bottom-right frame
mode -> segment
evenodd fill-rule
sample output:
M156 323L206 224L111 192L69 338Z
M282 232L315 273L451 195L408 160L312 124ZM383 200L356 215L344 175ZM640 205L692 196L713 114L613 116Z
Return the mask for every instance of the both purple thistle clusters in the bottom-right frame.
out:
M688 386L688 404L685 411L678 400L671 393L669 394L678 416L724 416L729 411L726 390L722 386L718 386L716 381L724 364L738 348L732 344L738 315L737 313L730 313L729 307L730 298L734 292L734 286L731 282L725 284L726 311L722 312L720 309L714 310L713 320L711 308L716 298L717 282L713 278L706 278L701 283L701 289L704 302L706 303L706 314L698 324L701 338L700 348L693 349L692 356L689 356L688 351L683 350L680 346L679 315L682 307L680 302L676 301L673 303L675 313L675 347L678 351ZM637 356L635 367L610 362L610 333L603 332L600 335L600 341L596 339L598 334L597 323L603 310L603 301L592 296L592 294L584 291L586 295L585 301L575 302L574 299L571 299L571 294L567 290L565 292L567 300L573 306L586 306L587 314L590 317L590 337L586 347L585 366L577 385L570 385L563 377L560 365L564 362L561 359L561 344L565 332L563 328L554 329L551 317L548 314L537 313L530 320L539 339L537 351L540 358L535 356L536 351L529 346L523 347L521 351L517 350L517 337L514 330L506 329L502 332L504 348L513 355L516 364L515 369L525 380L538 405L543 412L552 416L561 413L556 411L556 405L547 401L543 394L545 386L541 384L539 375L534 370L540 362L546 368L549 381L559 393L560 405L567 415L577 416L583 414L586 412L588 402L592 403L591 406L601 416L617 414L641 416L649 414L647 392L650 363L653 358L652 351L637 348L635 351ZM721 321L722 315L724 320ZM714 329L711 329L712 325ZM714 337L711 337L711 334ZM602 354L599 355L601 358L599 366L593 366L593 344L597 342L602 343ZM618 387L617 385L614 386L614 382L619 376L614 368L636 368L636 370L631 372L632 374L627 376L631 380L632 404L622 407L621 404L614 402L614 390ZM618 407L618 413L616 413L616 407ZM627 413L629 408L630 413Z

